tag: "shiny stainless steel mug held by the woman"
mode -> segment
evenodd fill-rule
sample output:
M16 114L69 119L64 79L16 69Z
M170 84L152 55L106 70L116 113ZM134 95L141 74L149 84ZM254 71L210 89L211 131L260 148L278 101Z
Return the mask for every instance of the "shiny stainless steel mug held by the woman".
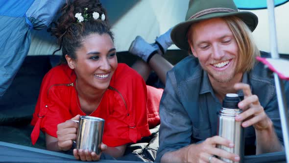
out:
M100 154L100 144L104 128L104 119L93 116L80 116L78 122L76 149L88 149Z

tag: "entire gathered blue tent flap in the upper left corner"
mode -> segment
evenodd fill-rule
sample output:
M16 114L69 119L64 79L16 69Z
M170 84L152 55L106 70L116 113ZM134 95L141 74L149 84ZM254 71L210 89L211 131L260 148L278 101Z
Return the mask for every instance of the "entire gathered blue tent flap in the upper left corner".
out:
M29 52L29 29L48 26L65 0L0 1L0 98ZM32 3L33 2L33 3ZM16 10L14 11L14 9Z

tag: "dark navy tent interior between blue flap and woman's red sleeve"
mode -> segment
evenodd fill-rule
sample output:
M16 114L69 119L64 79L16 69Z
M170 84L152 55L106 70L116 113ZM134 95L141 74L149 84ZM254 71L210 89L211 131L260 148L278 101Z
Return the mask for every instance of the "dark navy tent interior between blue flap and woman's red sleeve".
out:
M0 125L30 124L41 81L50 68L49 56L25 57L11 86L0 99Z

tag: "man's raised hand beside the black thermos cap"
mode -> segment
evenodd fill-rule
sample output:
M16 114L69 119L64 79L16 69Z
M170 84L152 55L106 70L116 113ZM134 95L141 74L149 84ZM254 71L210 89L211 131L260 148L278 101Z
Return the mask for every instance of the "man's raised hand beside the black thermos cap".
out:
M243 112L236 116L236 121L244 121L242 122L243 127L253 125L255 130L259 131L270 129L272 127L272 121L260 105L258 96L252 95L250 86L246 83L236 83L234 88L236 90L242 89L244 93L244 100L238 104Z

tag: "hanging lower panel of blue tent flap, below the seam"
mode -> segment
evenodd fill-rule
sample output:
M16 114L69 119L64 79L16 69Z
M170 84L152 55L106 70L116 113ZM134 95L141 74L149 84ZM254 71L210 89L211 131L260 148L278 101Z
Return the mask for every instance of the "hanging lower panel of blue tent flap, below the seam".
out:
M24 17L0 16L0 97L10 86L26 54L31 36Z

